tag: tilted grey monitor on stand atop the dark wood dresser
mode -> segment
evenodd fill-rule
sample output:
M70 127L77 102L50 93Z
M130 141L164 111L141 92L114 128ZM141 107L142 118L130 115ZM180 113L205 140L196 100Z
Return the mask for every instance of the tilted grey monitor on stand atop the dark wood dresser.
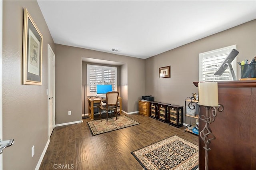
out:
M224 59L218 70L214 73L214 75L222 75L224 71L229 67L233 80L236 80L236 75L234 73L231 63L236 58L236 55L238 55L238 53L239 51L237 51L236 49L232 49L227 57Z

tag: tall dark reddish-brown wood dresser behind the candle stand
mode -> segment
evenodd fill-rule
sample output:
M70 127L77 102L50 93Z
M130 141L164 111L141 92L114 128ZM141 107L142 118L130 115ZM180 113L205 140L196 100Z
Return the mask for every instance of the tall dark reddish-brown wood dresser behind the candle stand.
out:
M198 82L194 82L198 87ZM199 96L200 100L200 96ZM256 168L256 81L218 82L218 100L224 106L210 124L216 137L208 151L209 170ZM201 107L201 115L205 108ZM204 128L199 120L199 132ZM204 142L199 138L199 169L204 169Z

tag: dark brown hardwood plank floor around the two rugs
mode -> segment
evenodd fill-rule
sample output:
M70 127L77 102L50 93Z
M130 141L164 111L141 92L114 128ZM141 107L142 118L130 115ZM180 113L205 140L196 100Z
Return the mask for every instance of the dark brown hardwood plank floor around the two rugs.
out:
M184 132L184 127L176 128L139 114L126 116L140 124L96 136L92 136L86 123L89 118L83 123L54 128L40 170L143 170L130 152L173 135L198 145L198 136ZM95 119L98 117L95 115Z

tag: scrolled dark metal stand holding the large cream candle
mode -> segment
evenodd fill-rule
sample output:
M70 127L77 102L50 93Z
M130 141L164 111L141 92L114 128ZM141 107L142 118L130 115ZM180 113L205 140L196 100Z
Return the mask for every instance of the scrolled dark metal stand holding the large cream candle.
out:
M200 105L203 106L203 105ZM206 115L200 115L199 111L199 119L205 123L204 128L200 131L200 137L204 141L204 149L205 149L205 170L208 170L208 151L211 150L209 147L211 141L215 139L214 134L210 128L210 124L215 121L217 116L217 111L222 112L224 110L223 105L219 104L219 106L203 106L206 108ZM200 107L199 107L200 108Z

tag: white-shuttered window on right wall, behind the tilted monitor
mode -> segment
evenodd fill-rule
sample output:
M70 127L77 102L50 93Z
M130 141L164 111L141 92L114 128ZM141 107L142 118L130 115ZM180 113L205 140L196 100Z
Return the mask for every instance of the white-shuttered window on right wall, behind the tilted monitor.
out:
M199 81L228 81L233 80L229 67L222 75L214 75L226 56L236 45L215 49L199 54ZM236 73L236 58L231 63Z

